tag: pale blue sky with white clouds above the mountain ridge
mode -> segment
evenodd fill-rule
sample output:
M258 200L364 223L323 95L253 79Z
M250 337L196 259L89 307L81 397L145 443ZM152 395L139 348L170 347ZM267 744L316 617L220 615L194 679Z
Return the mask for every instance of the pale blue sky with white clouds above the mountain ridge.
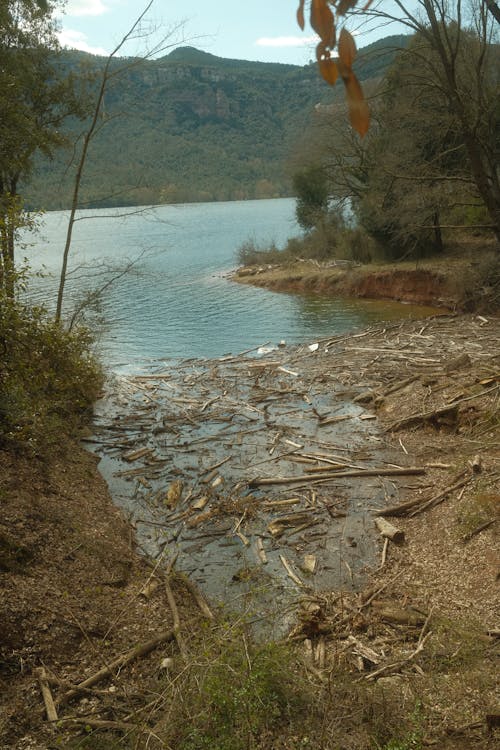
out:
M66 0L60 17L63 46L108 55L144 11L148 0ZM314 58L315 37L296 21L298 0L153 0L144 29L157 28L156 39L169 31L169 45L190 45L220 57L306 65ZM397 33L356 29L358 47ZM151 43L152 37L150 37ZM145 52L145 42L132 40L123 54Z

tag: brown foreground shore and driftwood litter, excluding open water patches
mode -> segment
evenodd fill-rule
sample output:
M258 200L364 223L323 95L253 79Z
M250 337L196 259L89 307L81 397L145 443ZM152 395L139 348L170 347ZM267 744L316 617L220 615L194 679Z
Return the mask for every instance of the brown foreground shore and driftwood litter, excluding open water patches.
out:
M244 549L246 539L253 548L260 538L269 557L279 552L287 560L292 576L284 575L297 602L287 639L293 648L287 647L274 661L263 662L262 650L252 650L241 616L228 624L224 615L224 625L215 624L201 611L185 579L175 575L168 586L165 572L152 575L150 565L137 555L130 525L111 503L95 458L77 446L48 462L0 454L3 746L284 750L310 745L361 750L377 747L376 741L381 748L495 747L500 705L495 692L499 340L498 318L445 315L276 349L257 359L241 355L229 358L232 362L222 358L203 366L192 363L184 394L173 390L177 381L168 373L128 380L128 392L121 392L123 421L114 421L114 437L107 430L105 447L128 454L132 488L140 491L147 489L143 482L152 481L149 472L161 468L164 460L155 458L153 429L164 430L154 439L163 436L170 454L164 464L168 470L175 461L172 447L185 443L183 424L194 429L198 422L224 417L223 399L231 397L222 387L229 382L224 380L225 368L231 368L234 384L250 373L253 390L245 392L246 421L258 430L254 437L262 436L267 462L251 462L253 470L245 469L247 487L255 488L258 499L258 480L293 477L279 491L272 483L260 485L260 504L288 503L285 514L275 505L266 525L274 521L274 529L279 522L287 528L277 535L269 530L256 533L259 509L251 513L248 503L219 507L221 486L241 481L232 474L242 465L231 458L239 460L236 436L226 439L230 459L212 469L216 473L209 483L203 481L207 472L199 465L206 469L220 460L211 456L211 441L202 443L203 453L199 443L184 445L194 449L185 454L194 468L178 479L193 492L181 488L175 500L169 486L172 494L166 499L174 507L163 531L170 537L172 529L177 533L180 525L195 520L193 527L201 537L213 531L209 524L220 523L227 543L237 542ZM198 394L201 385L205 391ZM220 393L212 393L216 386ZM163 399L162 389L172 398ZM327 412L325 403L331 404L332 394L336 398L340 392L343 403L348 399L351 406ZM237 393L234 414L241 412L243 399L243 392ZM304 431L302 418L297 423L290 415L279 419L276 399L295 399L297 394L302 394L304 418L314 420L314 433ZM211 403L213 398L218 400ZM266 415L262 424L252 419L259 411ZM161 424L155 421L149 430L146 415L151 414ZM343 428L337 438L325 437L332 426ZM365 440L364 445L356 443L352 461L351 456L342 457L351 431ZM313 437L331 447L307 450L304 440ZM127 444L131 438L134 444ZM334 444L341 449L340 458L333 458ZM390 457L381 464L380 456ZM289 459L294 462L285 474L280 462ZM346 463L356 464L352 471L357 476L342 478ZM375 471L366 473L372 465ZM391 469L408 467L417 473L391 475ZM200 502L204 496L206 502ZM243 496L248 498L245 488ZM343 585L315 590L312 582L323 575L321 545L308 552L313 568L309 573L298 561L318 527L294 535L296 524L288 526L290 520L283 522L283 516L290 516L292 508L312 517L303 521L306 525L330 514L342 522L351 504L364 505L370 497L370 525L364 534L355 539L344 529L339 537ZM376 518L385 517L387 506L396 506L387 518L399 529L397 543L378 538L374 525ZM212 516L203 517L210 510ZM179 514L185 515L175 518ZM321 541L321 535L317 538ZM367 544L372 538L376 562L363 570L353 563L355 552L360 540ZM160 559L172 561L176 550L169 542ZM255 559L254 588L266 565L262 558ZM177 630L180 639L175 638ZM130 655L137 644L151 644L158 634L160 641L147 653L136 652L127 664L112 668L111 680L100 673L121 655ZM223 648L228 638L233 646L239 644L244 673L236 668L234 651L228 656ZM58 715L63 721L56 728L44 716L35 674L42 665L56 701L61 701ZM300 700L296 692L280 693L273 701L268 701L269 692L252 692L264 683L265 690L277 689L270 686L269 670L280 674L282 684L296 683ZM232 709L215 679L219 673L233 694ZM241 680L237 686L231 682L234 674ZM95 682L83 684L96 675ZM257 708L262 705L266 715ZM251 717L248 726L242 716ZM192 729L189 737L186 726ZM224 745L226 740L233 744Z

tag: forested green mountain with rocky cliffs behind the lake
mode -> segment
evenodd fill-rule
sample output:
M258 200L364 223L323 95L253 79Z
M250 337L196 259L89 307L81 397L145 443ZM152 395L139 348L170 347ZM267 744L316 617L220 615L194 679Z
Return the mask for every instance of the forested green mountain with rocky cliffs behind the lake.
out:
M360 50L360 80L383 75L409 37ZM65 52L69 70L97 74L105 58ZM181 47L160 59L117 59L81 189L88 207L290 195L286 163L314 107L343 97L315 64L229 60ZM121 72L119 72L121 70ZM72 122L75 141L84 123ZM24 194L30 208L66 208L73 149L39 159Z

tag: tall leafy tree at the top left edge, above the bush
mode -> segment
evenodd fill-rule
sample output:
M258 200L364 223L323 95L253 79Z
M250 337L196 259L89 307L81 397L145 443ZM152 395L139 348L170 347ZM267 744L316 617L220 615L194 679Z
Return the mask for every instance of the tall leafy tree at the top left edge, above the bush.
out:
M37 152L50 157L63 143L63 120L81 112L73 77L57 67L53 10L44 0L4 0L0 12L0 285L10 296L26 221L19 181Z

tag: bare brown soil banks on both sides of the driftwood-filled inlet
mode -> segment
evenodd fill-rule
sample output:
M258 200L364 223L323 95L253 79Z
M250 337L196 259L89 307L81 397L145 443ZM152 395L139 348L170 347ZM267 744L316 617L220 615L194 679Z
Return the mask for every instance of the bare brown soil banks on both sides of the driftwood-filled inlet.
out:
M325 389L330 378L350 389L376 420L381 445L397 452L401 465L424 469L402 480L404 493L396 498L414 500L417 514L388 519L405 541L388 543L364 592L305 597L292 634L308 653L304 669L319 690L335 682L334 670L345 662L346 710L360 681L372 690L363 721L378 712L389 726L391 711L409 714L418 704L425 714L422 742L439 748L498 746L499 341L500 319L447 315L280 355L287 367L314 363ZM81 447L69 444L43 457L2 451L0 478L0 747L84 746L82 724L97 732L92 721L114 722L108 728L119 731L120 722L130 726L134 710L150 704L162 662L178 658L175 641L80 691L60 712L76 721L55 727L46 720L35 670L44 666L61 696L171 628L167 590L156 577L154 595L141 595L151 562L138 555L95 457ZM392 479L372 481L392 504ZM180 578L172 588L189 644L205 627L202 615ZM361 714L340 713L330 710L329 717L337 744L316 746L370 746L361 736ZM265 747L299 746L273 742Z

